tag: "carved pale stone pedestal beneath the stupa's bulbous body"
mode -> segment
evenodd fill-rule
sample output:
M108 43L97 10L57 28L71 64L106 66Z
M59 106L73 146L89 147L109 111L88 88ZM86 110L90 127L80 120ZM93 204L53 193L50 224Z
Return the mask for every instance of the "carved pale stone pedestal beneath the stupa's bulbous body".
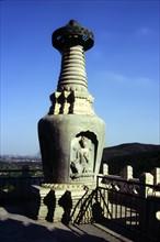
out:
M70 215L69 221L73 222L82 209L85 199L95 189L95 184L72 185L72 184L45 184L42 186L32 186L32 202L30 215L37 220L47 220L48 222L59 222L64 218L65 209L59 205L59 199L69 194L71 198L71 208L68 207ZM49 202L46 200L49 197ZM69 201L70 202L70 201ZM65 201L68 204L68 200ZM88 219L91 219L88 217Z

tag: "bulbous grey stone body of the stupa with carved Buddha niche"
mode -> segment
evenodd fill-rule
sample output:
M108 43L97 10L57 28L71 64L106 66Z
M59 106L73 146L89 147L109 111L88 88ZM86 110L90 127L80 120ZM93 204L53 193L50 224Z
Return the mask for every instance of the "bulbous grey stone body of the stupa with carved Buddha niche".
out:
M105 132L98 117L46 116L39 121L39 141L44 174L53 183L93 179L99 173ZM81 140L85 139L85 147ZM85 156L89 156L85 158ZM77 172L73 170L73 164ZM79 168L78 168L79 166ZM84 169L82 169L82 166ZM88 166L88 168L87 168Z

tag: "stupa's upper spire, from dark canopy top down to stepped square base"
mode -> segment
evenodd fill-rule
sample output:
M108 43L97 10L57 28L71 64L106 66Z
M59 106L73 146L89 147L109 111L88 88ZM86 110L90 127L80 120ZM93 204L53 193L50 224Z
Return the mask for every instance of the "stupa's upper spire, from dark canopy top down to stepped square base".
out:
M53 46L61 53L57 91L50 96L50 114L94 114L88 91L84 52L94 44L93 33L76 20L53 33Z

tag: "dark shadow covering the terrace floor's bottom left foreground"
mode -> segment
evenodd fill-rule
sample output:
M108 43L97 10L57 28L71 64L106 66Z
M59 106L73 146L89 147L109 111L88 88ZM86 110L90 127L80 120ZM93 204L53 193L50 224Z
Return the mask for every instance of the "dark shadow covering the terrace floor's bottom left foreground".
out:
M77 233L68 230L67 227L49 230L47 227L30 222L18 221L14 219L0 220L0 241L46 241L46 242L106 242L101 237L87 233Z

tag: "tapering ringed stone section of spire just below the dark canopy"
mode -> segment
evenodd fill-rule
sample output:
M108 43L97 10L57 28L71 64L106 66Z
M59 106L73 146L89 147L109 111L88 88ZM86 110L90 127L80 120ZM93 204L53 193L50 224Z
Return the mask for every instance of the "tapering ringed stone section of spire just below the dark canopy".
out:
M57 91L88 91L83 46L67 47L62 52Z

